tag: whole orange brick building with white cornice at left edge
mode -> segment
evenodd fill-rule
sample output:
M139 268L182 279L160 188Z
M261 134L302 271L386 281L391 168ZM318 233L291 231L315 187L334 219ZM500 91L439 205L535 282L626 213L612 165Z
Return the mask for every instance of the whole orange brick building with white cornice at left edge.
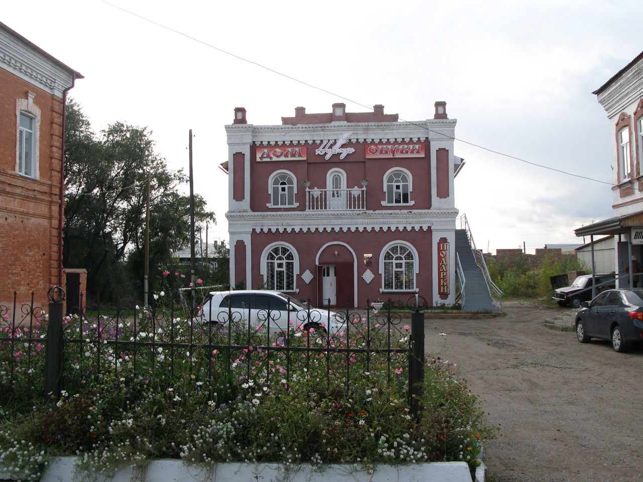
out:
M0 305L64 286L64 111L80 73L0 22Z

